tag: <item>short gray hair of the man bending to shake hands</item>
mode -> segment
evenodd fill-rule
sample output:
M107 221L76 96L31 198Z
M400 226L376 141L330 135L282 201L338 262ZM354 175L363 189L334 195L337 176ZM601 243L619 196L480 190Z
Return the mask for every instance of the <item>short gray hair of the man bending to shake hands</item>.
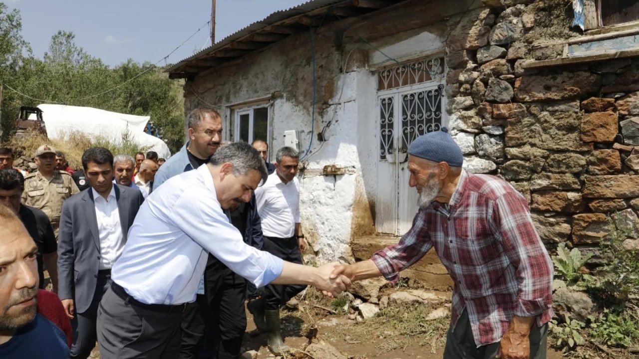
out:
M233 174L235 176L245 176L251 170L259 172L262 182L266 183L266 165L259 155L259 152L247 144L246 142L235 142L220 146L215 151L208 163L212 165L221 165L226 162L233 164Z

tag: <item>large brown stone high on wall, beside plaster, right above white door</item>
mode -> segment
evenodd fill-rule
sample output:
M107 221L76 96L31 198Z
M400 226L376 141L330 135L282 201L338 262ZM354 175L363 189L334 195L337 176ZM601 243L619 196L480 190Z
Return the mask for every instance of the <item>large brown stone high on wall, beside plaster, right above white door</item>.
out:
M490 27L484 22L489 15L489 9L479 8L452 17L448 22L447 47L450 50L476 50L488 44Z

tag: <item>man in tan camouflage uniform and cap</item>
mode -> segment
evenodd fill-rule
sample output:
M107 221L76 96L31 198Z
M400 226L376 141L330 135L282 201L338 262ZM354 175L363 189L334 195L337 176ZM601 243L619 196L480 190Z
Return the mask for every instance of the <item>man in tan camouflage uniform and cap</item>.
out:
M22 203L47 214L58 240L62 201L80 191L70 174L56 170L56 149L52 146L43 144L38 147L34 158L38 172L24 178Z

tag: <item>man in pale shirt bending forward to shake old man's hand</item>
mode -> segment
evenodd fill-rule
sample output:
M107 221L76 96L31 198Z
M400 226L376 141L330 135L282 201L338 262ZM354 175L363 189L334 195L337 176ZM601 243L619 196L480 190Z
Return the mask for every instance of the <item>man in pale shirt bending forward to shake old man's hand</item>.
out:
M102 359L177 358L185 305L196 300L208 253L256 286L311 284L333 295L350 282L245 244L224 210L249 202L266 167L249 144L217 149L208 164L173 176L142 204L98 309Z

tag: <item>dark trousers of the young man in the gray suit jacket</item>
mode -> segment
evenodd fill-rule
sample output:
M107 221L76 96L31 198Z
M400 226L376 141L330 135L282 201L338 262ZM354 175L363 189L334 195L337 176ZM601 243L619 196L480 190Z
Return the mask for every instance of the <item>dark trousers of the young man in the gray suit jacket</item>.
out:
M89 309L82 313L75 313L71 320L73 330L73 346L71 347L72 359L86 359L91 355L97 340L96 323L98 321L98 305L102 296L111 286L111 271L98 271L93 300Z

